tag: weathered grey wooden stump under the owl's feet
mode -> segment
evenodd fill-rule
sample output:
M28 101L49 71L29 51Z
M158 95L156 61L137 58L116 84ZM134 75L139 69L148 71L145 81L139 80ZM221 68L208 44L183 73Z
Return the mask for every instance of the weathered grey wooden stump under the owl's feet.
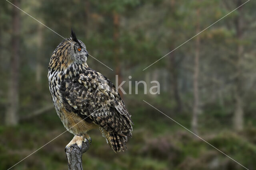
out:
M82 149L80 149L76 144L65 149L66 157L68 159L68 169L69 170L82 170L82 154L89 149L89 142L82 143Z

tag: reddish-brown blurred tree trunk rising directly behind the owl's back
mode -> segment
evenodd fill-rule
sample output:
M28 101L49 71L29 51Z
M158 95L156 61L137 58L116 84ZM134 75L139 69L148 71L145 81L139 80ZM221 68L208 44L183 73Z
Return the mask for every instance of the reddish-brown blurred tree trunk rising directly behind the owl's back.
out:
M114 24L114 60L116 64L116 75L118 75L118 85L122 83L122 72L121 72L121 63L119 61L119 45L118 45L118 39L119 39L119 15L117 12L113 12L113 24ZM122 91L118 89L118 92L121 97L123 97Z

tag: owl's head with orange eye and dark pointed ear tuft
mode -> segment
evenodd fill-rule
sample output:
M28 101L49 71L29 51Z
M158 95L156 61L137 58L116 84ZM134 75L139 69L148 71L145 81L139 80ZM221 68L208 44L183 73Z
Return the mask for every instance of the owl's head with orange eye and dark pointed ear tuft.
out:
M76 38L71 29L70 38L64 39L52 53L49 70L64 70L72 63L86 64L87 58L88 52L84 43Z

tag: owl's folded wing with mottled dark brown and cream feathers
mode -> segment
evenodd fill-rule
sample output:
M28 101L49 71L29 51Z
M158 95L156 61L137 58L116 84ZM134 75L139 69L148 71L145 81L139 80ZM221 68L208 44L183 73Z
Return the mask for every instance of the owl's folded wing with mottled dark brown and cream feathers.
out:
M60 87L62 103L86 121L91 121L107 132L130 136L131 115L124 101L108 78L88 68L73 79L65 79Z

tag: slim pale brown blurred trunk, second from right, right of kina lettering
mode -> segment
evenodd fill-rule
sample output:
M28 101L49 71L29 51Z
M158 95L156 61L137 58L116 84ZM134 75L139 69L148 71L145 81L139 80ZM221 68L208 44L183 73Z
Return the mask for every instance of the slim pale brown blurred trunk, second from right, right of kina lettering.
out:
M197 10L197 17L200 17L200 12ZM199 21L196 23L196 32L200 31ZM194 60L194 106L193 106L193 117L192 117L192 131L198 134L198 105L199 105L199 94L198 94L198 74L199 74L199 50L200 50L200 37L196 36L196 54Z

